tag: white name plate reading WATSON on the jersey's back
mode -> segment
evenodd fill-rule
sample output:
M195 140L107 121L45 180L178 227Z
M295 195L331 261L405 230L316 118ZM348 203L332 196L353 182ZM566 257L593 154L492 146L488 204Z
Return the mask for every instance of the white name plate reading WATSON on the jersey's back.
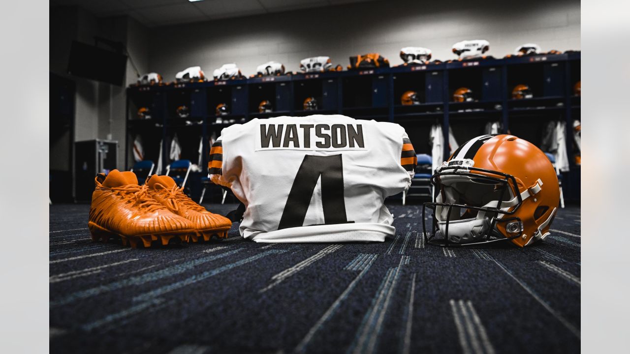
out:
M361 124L260 123L256 151L366 150Z

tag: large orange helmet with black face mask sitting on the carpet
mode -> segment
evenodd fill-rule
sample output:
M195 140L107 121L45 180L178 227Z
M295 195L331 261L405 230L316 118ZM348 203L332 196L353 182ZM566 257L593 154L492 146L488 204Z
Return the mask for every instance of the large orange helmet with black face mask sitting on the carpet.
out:
M549 236L560 202L558 176L544 152L507 134L465 142L431 181L439 192L424 204L423 214L434 211L425 241L438 246L505 240L528 246Z

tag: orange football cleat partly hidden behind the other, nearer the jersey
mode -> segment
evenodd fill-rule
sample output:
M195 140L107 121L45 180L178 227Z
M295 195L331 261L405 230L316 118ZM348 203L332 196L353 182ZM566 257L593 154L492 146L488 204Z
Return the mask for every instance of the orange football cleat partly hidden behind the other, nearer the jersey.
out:
M212 236L227 237L227 231L232 227L232 222L226 217L213 214L193 202L176 185L173 178L154 174L145 185L149 187L151 197L165 205L171 212L185 217L194 224L197 234L191 235L190 239L193 242L197 242L201 238L204 241L210 241Z

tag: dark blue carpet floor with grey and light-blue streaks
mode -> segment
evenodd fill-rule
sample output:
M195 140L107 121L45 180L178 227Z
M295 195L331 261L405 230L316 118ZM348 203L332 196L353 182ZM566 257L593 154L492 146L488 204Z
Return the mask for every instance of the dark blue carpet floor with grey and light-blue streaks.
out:
M236 205L206 205L226 214ZM52 353L577 353L580 208L526 249L425 245L420 205L396 237L257 244L95 243L89 205L50 207Z

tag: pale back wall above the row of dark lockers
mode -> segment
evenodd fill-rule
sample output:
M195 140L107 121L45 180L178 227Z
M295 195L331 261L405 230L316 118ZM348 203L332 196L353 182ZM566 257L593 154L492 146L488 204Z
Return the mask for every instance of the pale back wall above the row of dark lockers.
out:
M355 54L379 52L392 66L399 50L428 47L433 58L454 59L453 43L490 41L503 57L524 43L542 50L580 49L580 1L375 1L151 29L149 70L175 79L177 71L202 66L207 76L227 62L244 75L268 60L299 70L299 60L328 55L348 64Z

